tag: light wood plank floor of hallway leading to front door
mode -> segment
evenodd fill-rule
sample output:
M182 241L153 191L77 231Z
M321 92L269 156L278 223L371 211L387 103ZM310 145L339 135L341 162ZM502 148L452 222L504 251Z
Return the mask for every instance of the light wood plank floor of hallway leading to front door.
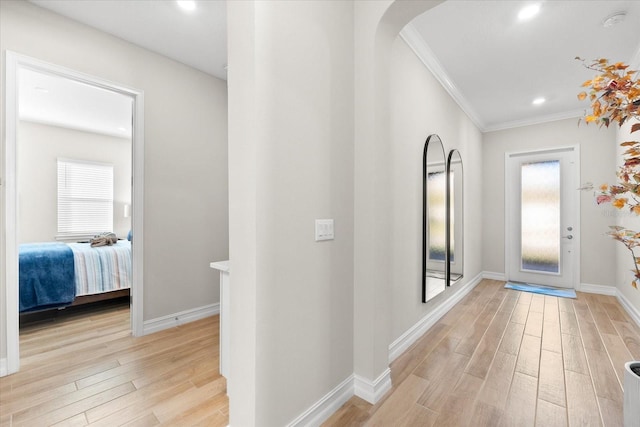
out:
M614 297L556 298L483 280L391 366L375 406L330 426L622 426L624 363L640 328Z

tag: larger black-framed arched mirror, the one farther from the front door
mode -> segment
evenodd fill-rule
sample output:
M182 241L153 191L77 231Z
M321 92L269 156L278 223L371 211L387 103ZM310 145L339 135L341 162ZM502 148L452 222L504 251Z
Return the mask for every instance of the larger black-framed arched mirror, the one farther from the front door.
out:
M422 160L422 302L446 288L446 162L438 135L429 135Z

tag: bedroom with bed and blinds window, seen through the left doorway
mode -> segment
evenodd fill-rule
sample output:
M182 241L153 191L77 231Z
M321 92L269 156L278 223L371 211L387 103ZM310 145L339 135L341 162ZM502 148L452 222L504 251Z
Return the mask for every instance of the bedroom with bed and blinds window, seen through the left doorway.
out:
M59 313L47 308L126 298L133 278L132 99L29 69L18 79L21 323ZM103 232L118 241L93 251L80 243Z

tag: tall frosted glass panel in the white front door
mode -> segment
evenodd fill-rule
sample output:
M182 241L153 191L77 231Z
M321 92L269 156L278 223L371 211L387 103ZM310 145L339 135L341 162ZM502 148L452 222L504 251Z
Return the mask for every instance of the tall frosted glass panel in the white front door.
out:
M520 268L559 273L560 161L523 163L520 195Z

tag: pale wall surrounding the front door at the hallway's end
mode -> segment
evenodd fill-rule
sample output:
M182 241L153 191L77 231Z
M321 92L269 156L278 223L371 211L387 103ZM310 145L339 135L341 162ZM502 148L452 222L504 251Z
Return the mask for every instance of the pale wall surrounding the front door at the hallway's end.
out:
M578 126L577 118L485 133L482 147L484 270L505 271L505 153L580 145L580 182L591 182L597 188L615 178L612 168L615 163L614 144L615 129L600 129L584 123ZM615 224L613 208L610 205L597 206L593 191L583 191L580 194L580 222L581 283L614 286L615 246L614 241L605 235L608 226Z

